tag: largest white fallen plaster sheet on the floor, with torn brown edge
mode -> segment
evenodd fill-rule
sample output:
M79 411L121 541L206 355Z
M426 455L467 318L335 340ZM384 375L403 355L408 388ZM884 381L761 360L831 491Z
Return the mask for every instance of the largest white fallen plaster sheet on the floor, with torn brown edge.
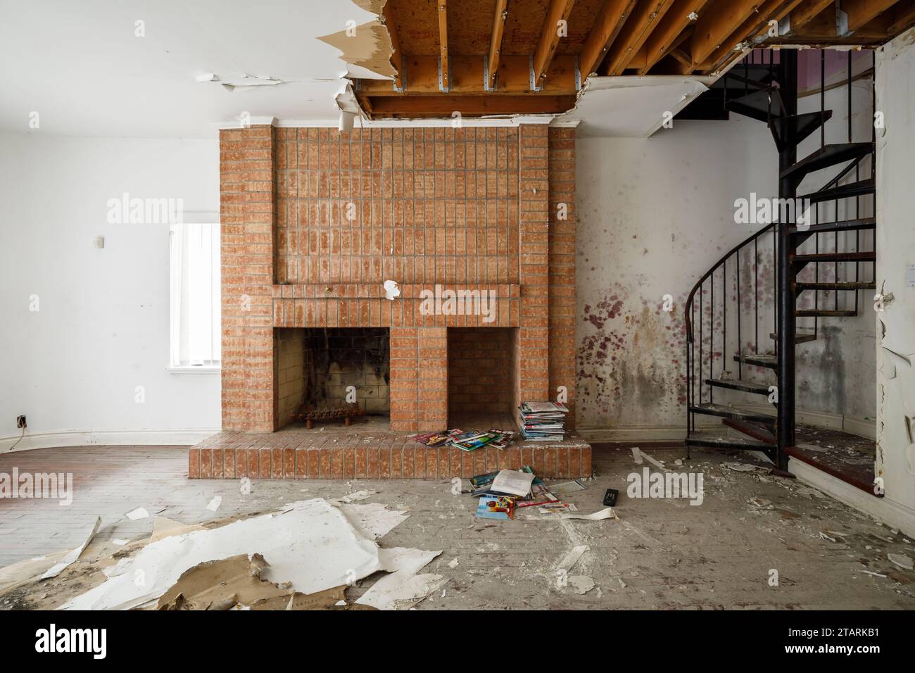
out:
M122 559L108 580L61 609L130 609L159 598L199 563L255 552L269 564L264 580L291 582L302 593L320 592L382 570L379 548L371 538L338 507L317 498L292 503L281 515L254 516L152 542L135 557Z

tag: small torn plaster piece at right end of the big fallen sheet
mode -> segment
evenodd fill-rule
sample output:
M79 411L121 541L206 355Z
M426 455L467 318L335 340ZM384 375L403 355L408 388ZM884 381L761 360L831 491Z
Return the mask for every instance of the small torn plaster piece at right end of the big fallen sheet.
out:
M382 567L390 570L391 574L372 584L356 603L379 610L406 610L413 607L416 602L437 592L447 583L442 575L416 574L441 553L403 547L379 549Z

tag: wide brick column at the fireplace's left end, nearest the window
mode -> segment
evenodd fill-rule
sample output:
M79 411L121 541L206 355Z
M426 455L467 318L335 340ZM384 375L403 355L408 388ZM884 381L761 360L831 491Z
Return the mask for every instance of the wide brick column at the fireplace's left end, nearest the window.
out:
M274 192L273 127L222 130L222 429L275 429Z

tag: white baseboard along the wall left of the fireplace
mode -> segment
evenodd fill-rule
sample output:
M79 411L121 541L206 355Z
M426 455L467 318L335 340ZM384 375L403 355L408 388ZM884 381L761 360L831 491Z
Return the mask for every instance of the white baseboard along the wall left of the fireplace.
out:
M61 446L191 446L219 432L219 428L191 428L172 430L61 430L58 432L34 432L26 430L26 436L18 444L15 437L0 438L0 452L32 449L52 449Z

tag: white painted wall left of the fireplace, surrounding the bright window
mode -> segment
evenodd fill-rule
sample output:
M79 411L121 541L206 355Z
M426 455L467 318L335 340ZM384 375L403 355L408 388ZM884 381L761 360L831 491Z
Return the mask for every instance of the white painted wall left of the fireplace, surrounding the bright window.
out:
M218 211L218 141L0 133L0 450L18 414L16 450L191 442L220 427L219 375L166 370L168 226L107 223L123 192Z

